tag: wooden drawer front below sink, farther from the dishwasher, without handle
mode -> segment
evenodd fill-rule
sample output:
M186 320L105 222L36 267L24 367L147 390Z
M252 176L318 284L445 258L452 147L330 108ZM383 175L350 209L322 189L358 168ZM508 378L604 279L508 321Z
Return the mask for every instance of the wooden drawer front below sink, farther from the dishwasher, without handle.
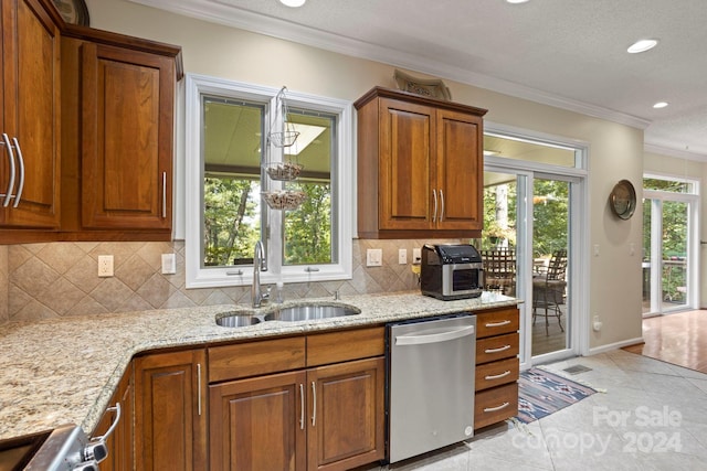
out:
M304 366L304 336L209 349L210 383L284 372Z

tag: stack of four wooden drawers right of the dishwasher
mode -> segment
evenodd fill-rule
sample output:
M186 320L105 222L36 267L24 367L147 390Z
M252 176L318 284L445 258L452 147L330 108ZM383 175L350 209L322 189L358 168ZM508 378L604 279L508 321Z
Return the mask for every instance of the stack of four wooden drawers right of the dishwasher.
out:
M519 322L517 308L476 315L475 429L518 414Z

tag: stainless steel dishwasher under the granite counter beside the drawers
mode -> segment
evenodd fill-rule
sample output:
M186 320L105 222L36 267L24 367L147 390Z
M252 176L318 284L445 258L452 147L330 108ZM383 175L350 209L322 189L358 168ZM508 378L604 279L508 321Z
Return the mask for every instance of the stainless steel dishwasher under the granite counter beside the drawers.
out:
M476 317L388 325L389 461L474 435Z

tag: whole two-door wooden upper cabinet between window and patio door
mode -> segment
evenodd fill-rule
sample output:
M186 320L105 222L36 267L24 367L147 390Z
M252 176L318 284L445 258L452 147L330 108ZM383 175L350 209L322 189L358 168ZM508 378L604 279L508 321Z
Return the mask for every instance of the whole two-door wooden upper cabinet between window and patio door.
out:
M486 110L381 87L355 106L359 237L479 235Z

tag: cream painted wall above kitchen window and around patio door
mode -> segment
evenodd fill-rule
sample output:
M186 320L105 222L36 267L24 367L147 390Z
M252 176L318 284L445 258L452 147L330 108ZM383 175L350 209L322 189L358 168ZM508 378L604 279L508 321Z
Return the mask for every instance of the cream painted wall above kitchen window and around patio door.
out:
M390 65L354 58L241 30L179 17L120 0L87 0L93 28L178 44L184 71L235 81L355 100L372 86L393 87ZM444 78L444 77L442 77ZM641 188L643 131L624 125L513 98L445 81L455 101L487 108L495 124L576 139L590 144L590 234L585 289L589 308L603 321L590 334L591 347L621 344L641 336L641 214L618 221L608 206L621 179ZM183 139L183 130L179 138ZM190 158L187 156L187 158ZM637 254L641 251L637 250ZM588 322L589 315L583 322Z

